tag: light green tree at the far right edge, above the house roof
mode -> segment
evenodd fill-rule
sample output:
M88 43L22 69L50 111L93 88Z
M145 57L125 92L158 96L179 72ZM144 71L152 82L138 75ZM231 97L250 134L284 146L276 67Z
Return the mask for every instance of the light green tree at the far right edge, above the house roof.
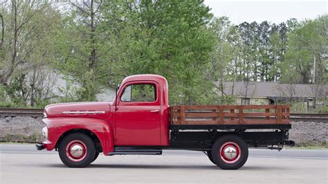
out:
M298 73L302 84L327 82L327 17L300 22L289 33L283 67Z

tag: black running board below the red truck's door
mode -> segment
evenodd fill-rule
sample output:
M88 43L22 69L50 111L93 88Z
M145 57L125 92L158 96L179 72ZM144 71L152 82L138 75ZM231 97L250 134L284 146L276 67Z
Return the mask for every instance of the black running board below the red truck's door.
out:
M161 155L162 149L153 147L115 147L108 155Z

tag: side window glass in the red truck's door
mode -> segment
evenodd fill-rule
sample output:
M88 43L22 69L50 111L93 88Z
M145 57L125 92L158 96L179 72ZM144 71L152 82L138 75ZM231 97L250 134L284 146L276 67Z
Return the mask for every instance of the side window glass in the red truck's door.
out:
M155 102L156 96L154 84L131 84L125 88L120 100L122 102Z

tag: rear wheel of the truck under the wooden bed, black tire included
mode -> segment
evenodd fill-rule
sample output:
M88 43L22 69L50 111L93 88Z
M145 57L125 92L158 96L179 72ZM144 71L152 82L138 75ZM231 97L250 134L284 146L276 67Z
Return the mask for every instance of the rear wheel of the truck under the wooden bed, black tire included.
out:
M224 150L228 152L225 153ZM235 153L233 153L234 150ZM213 163L221 169L239 169L248 158L246 142L235 135L219 137L213 144L211 152Z

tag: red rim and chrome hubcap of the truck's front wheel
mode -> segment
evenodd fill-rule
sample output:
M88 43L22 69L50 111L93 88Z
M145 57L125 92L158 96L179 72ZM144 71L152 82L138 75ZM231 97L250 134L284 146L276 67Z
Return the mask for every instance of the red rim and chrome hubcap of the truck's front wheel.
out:
M66 156L73 162L80 162L86 157L86 145L81 140L72 140L66 145Z

